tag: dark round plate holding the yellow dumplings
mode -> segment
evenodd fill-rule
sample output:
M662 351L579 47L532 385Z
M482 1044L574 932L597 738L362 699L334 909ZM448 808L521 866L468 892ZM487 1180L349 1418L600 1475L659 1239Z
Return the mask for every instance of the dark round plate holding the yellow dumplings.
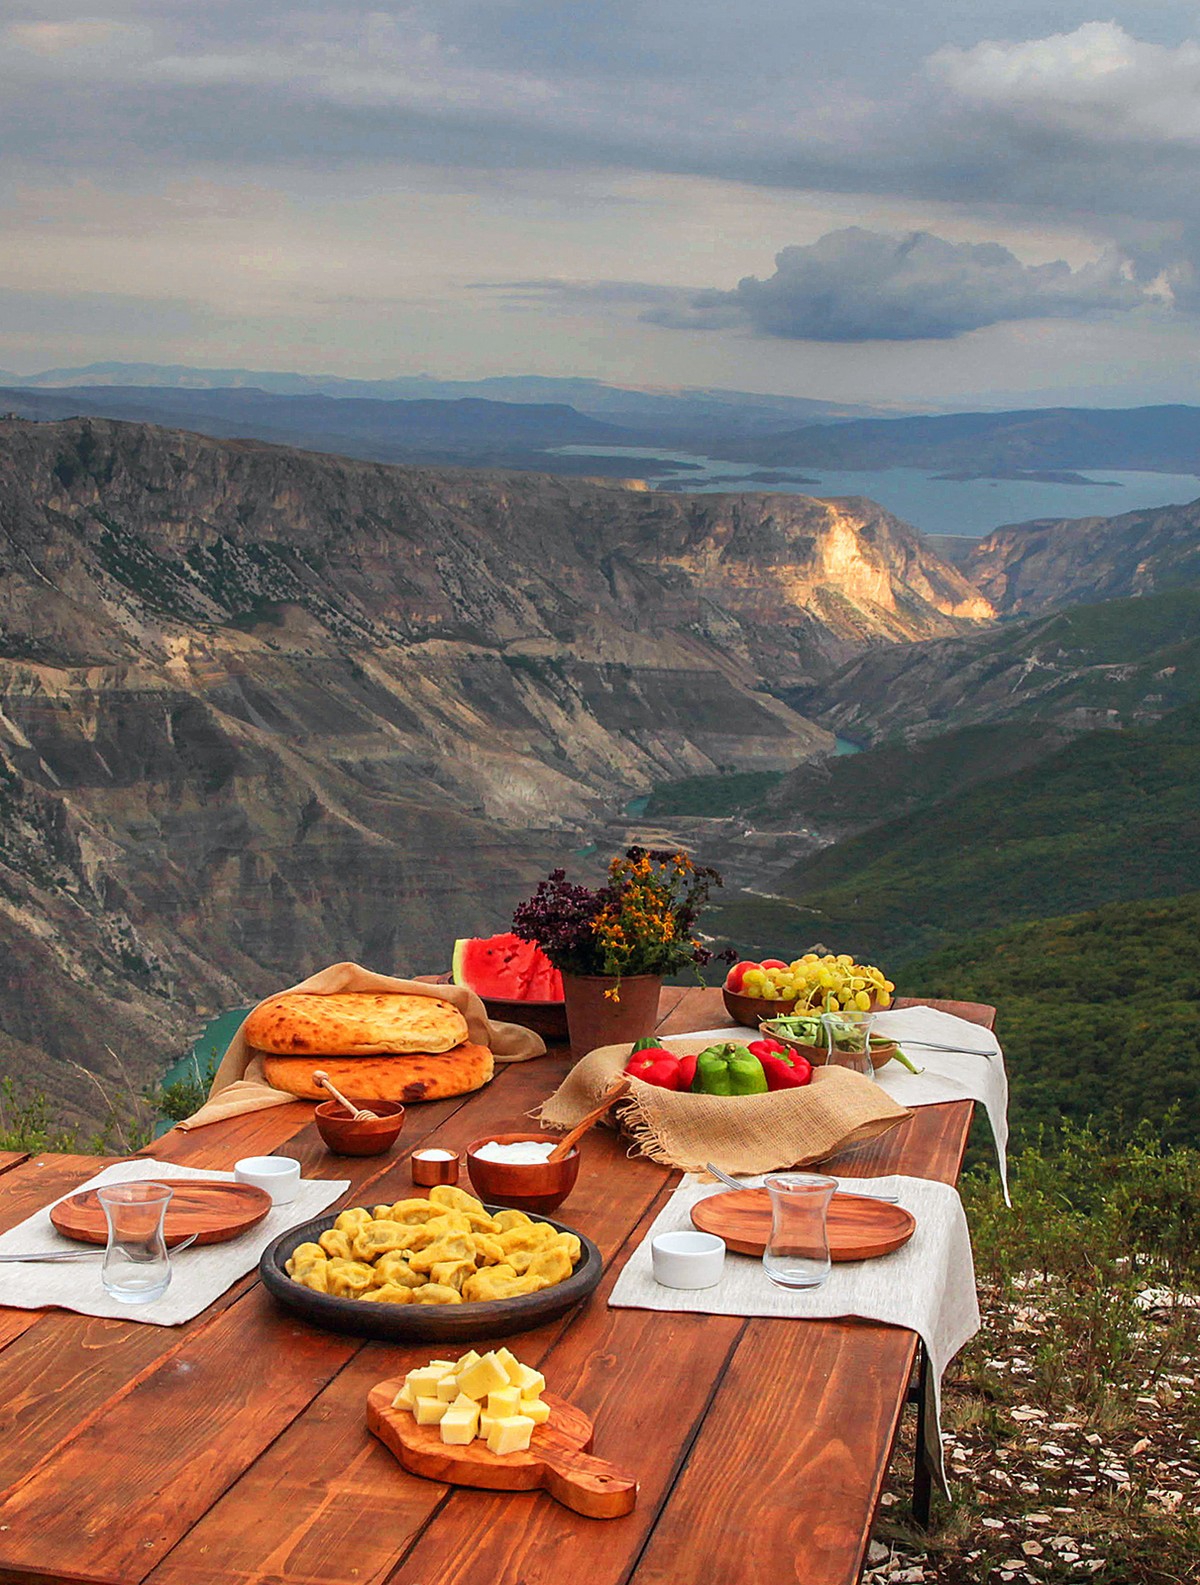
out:
M501 1205L485 1205L496 1214ZM357 1338L384 1338L390 1342L461 1342L479 1338L509 1338L514 1331L529 1331L542 1322L563 1316L596 1287L604 1274L604 1257L599 1249L574 1227L556 1222L552 1216L536 1220L548 1222L561 1233L574 1233L583 1246L579 1265L563 1282L541 1293L518 1293L517 1298L496 1298L479 1304L373 1304L361 1298L336 1298L331 1293L314 1293L312 1289L293 1282L284 1270L298 1244L315 1243L333 1227L339 1213L330 1211L292 1227L268 1244L258 1262L258 1276L281 1304L295 1309L306 1320L330 1331L349 1331ZM396 1388L399 1392L399 1388Z

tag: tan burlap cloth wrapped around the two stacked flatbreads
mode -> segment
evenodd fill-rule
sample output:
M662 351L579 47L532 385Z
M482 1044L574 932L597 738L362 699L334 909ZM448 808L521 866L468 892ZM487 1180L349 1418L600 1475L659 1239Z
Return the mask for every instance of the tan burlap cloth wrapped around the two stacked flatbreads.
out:
M407 995L439 997L442 1002L450 1002L458 1008L463 1018L466 1018L471 1040L479 1046L490 1046L496 1062L526 1062L529 1057L545 1054L545 1041L541 1035L534 1035L531 1029L522 1029L520 1024L491 1022L483 1011L483 1003L466 986L436 986L422 980L392 980L390 975L376 975L369 968L360 968L358 964L331 964L308 980L301 980L298 986L289 986L289 991L303 991L308 995L333 995L338 991L403 991ZM282 995L284 992L274 991L271 994ZM263 1000L269 1000L269 997ZM258 1005L262 1006L262 1002ZM190 1117L185 1117L176 1127L203 1129L204 1124L220 1122L224 1117L238 1117L244 1111L262 1111L265 1106L285 1106L295 1098L295 1095L277 1090L266 1083L262 1060L250 1056L250 1049L239 1029L212 1078L208 1100L200 1111L192 1113Z

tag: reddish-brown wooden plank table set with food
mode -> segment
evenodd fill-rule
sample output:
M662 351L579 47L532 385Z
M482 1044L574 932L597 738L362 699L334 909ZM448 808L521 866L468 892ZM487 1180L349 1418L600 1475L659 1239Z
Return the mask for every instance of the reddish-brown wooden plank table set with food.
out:
M940 1003L991 1024L991 1008ZM712 991L664 991L659 1030L724 1022ZM558 1083L552 1054L480 1094L409 1111L401 1143L463 1148L526 1127ZM954 1182L967 1103L919 1108L839 1168ZM331 1157L296 1103L151 1154L230 1168L284 1148L350 1203L409 1192L403 1155ZM103 1162L0 1155L0 1219L22 1220ZM640 1479L628 1518L547 1496L407 1476L365 1430L368 1390L426 1349L317 1331L254 1276L184 1327L0 1309L0 1580L146 1585L848 1585L908 1398L918 1339L864 1322L609 1309L613 1279L675 1174L593 1133L561 1213L601 1246L604 1281L517 1339L596 1420L596 1450ZM92 1281L82 1278L81 1281Z

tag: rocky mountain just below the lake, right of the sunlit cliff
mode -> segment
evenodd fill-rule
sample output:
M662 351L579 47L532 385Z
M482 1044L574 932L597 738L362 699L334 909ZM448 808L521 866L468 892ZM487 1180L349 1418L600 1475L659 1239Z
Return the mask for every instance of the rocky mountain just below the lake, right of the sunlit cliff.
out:
M1121 517L1015 523L954 560L1008 613L1200 583L1200 499Z

